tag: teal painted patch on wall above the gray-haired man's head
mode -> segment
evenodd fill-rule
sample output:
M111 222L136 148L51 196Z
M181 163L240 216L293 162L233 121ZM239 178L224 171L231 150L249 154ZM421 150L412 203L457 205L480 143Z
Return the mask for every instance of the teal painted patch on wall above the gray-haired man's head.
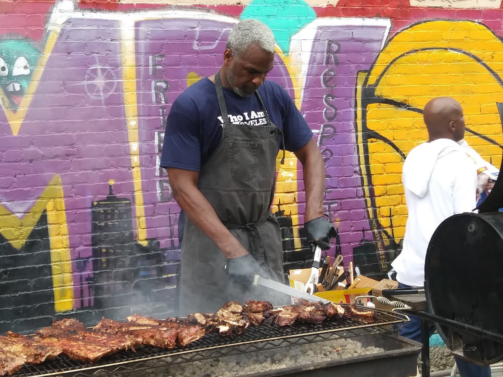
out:
M241 13L241 20L250 18L269 26L276 43L288 55L292 36L315 20L316 14L302 0L253 0Z

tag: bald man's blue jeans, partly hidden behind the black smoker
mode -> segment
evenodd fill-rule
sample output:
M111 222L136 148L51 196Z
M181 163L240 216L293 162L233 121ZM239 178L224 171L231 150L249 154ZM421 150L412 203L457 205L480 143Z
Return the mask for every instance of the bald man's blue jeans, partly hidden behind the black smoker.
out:
M398 283L398 288L411 288L404 284ZM415 340L421 343L421 319L416 316L411 316L407 314L410 318L410 322L405 323L403 327L398 331L401 336L408 339ZM435 332L435 326L429 326L430 336ZM471 362L462 360L456 357L456 365L459 369L459 374L461 377L491 377L490 366L479 366L472 364Z

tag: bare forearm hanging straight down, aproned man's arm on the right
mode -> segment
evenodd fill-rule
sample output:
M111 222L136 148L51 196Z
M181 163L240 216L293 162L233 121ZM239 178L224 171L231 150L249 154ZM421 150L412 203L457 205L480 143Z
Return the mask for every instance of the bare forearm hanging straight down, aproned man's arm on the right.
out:
M304 222L323 216L325 166L319 153L308 153L302 163L306 191Z

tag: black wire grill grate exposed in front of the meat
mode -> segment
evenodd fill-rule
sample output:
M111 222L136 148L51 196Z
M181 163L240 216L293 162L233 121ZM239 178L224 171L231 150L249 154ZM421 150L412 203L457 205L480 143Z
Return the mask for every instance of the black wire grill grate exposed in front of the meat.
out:
M345 306L345 304L341 305ZM219 334L207 334L185 348L177 346L172 350L141 346L136 349L136 352L120 351L103 357L93 364L61 355L42 364L25 364L18 372L12 374L12 377L54 375L89 377L123 373L296 344L382 333L389 331L391 325L400 325L408 321L403 314L380 310L374 310L374 312L376 316L372 323L356 322L346 314L342 319L325 320L321 324L295 324L286 327L251 326L241 335L223 337Z

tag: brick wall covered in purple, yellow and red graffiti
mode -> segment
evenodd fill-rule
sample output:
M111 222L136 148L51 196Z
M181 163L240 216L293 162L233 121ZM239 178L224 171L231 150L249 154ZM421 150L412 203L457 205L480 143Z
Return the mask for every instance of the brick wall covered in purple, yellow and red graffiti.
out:
M270 79L312 128L338 229L329 253L346 265L381 277L399 253L401 164L426 137L431 98L455 97L468 142L500 164L499 3L227 3L0 1L0 332L176 310L180 209L158 166L165 116L216 71L239 19L275 33ZM288 271L310 256L305 194L294 156L278 166Z

